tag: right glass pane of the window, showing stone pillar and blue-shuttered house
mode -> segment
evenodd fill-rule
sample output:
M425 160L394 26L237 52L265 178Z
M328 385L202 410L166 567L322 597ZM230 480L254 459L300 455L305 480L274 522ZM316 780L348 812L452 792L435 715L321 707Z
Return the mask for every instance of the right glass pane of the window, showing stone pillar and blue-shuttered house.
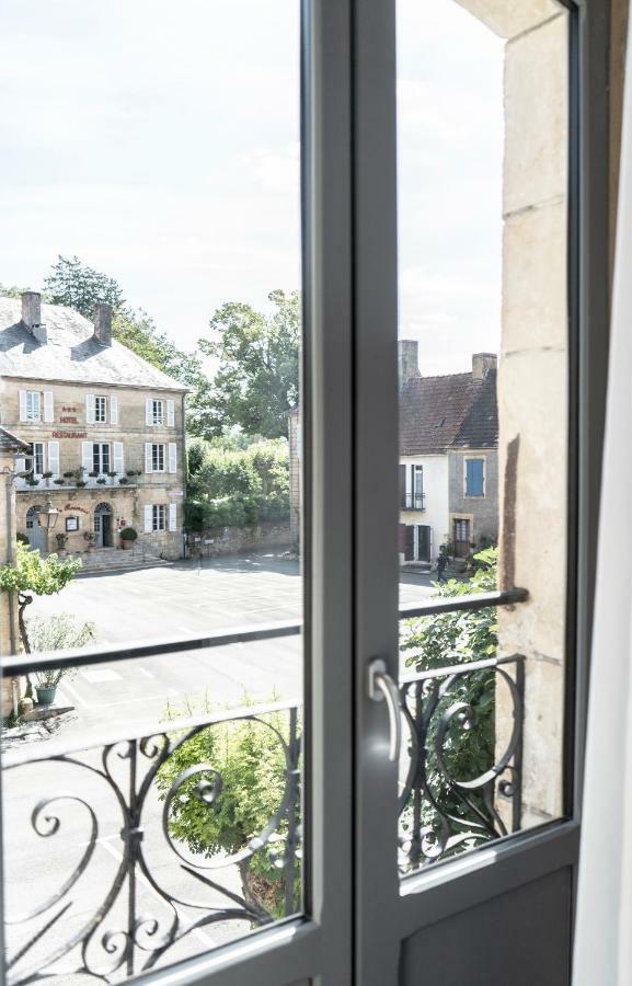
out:
M563 812L568 21L398 0L401 603L528 591L401 620L403 875Z

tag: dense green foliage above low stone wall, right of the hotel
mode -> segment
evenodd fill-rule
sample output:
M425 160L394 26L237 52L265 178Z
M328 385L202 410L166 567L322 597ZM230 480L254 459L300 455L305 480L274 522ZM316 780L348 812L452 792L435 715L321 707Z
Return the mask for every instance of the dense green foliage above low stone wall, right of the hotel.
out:
M289 516L288 445L283 438L245 448L197 439L188 445L189 530L241 526Z

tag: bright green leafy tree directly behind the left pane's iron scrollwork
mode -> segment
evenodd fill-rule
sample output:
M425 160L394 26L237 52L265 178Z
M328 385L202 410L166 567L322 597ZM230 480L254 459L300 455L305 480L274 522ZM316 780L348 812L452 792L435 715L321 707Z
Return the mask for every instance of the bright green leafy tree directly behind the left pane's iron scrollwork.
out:
M276 697L272 699L276 700ZM246 700L245 704L251 702ZM198 710L189 706L185 711L197 714ZM203 711L212 711L208 701ZM168 719L177 716L175 710L168 709ZM161 800L166 798L181 773L191 767L209 764L221 778L221 789L211 804L198 792L200 781L214 781L209 771L188 778L171 802L170 835L192 852L207 859L239 852L265 829L281 804L288 778L284 749L273 729L287 743L288 715L275 712L262 718L272 729L241 719L200 730L179 746L160 768L156 782ZM276 834L283 838L287 832L287 818L284 818ZM279 845L283 847L275 839L238 863L244 901L258 921L285 915L285 870L278 867L283 855L283 848L278 851ZM298 860L295 873L295 905L298 908Z

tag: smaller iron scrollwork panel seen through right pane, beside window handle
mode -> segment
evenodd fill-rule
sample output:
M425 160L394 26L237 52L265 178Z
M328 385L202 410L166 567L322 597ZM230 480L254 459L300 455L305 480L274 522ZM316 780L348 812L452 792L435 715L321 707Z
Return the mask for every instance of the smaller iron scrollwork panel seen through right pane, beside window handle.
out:
M507 689L510 735L498 749L492 719L491 748L479 752L484 768L468 773L475 763L468 741L485 732L498 687ZM483 708L485 690L493 691L494 702ZM422 672L402 684L400 703L410 737L399 796L402 875L519 830L524 657Z

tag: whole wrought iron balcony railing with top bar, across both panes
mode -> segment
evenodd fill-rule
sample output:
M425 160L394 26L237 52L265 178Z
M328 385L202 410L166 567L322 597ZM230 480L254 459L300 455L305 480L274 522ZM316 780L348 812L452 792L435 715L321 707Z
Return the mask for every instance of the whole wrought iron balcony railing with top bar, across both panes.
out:
M524 589L514 589L429 599L422 606L403 607L400 618L481 610L526 598ZM107 646L21 655L5 658L1 674L11 678L35 670L173 655L300 633L300 623L286 622L125 650ZM513 733L506 749L492 757L481 776L461 777L455 772L448 746L453 753L458 737L471 735L479 720L476 703L463 700L461 686L473 681L482 687L490 675L509 689ZM487 658L404 676L400 703L410 733L407 760L402 758L400 764L400 815L406 822L399 847L402 872L416 872L505 835L507 824L498 796L509 804L508 827L519 828L522 658ZM180 772L177 758L186 744L196 738L244 723L265 731L280 757L283 781L276 804L260 830L250 834L233 851L189 853L174 826L179 806L189 799L203 812L217 813L222 799L235 796L235 792L231 791L231 778L222 776L212 756L199 757ZM212 750L211 745L208 748ZM41 902L23 913L8 914L3 982L11 986L43 978L62 983L74 975L103 983L119 982L122 976L158 966L163 958L169 962L172 954L182 955L177 951L180 943L192 941L220 922L241 922L239 927L245 930L274 920L279 913L289 916L300 909L301 736L297 701L160 722L92 744L48 741L36 753L33 747L5 753L2 768L5 782L13 779L19 792L14 804L4 784L5 833L12 821L8 813L24 811L26 799L31 802L26 805L31 835L48 840L50 852L55 837L59 842L66 833L65 845L71 860L58 876L57 886L42 890ZM99 801L91 793L96 790L95 784L101 792ZM443 789L441 796L437 784ZM105 825L111 832L104 832ZM26 838L26 828L19 829L19 834L21 839ZM152 855L157 838L166 847L166 858L163 855L158 865ZM117 860L115 872L104 886L103 878L101 882L93 878L93 905L87 907L79 902L80 885L84 887L87 881L90 884L96 849L104 842L108 842ZM267 856L267 864L281 879L276 914L255 894L235 888L234 876L221 880L222 871L241 872L240 868L249 867L262 855ZM175 885L166 879L169 862L179 874ZM51 873L59 871L58 861ZM186 881L186 892L179 881ZM5 881L5 888L7 885ZM211 945L207 942L205 948Z

